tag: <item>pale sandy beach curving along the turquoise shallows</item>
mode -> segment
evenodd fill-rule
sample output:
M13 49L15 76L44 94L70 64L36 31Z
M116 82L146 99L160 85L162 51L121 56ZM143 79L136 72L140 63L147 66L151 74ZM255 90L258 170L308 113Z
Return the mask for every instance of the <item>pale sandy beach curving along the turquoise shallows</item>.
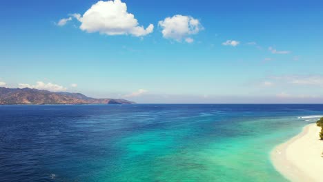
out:
M323 141L319 132L315 123L306 125L302 133L271 152L273 165L286 179L323 182Z

